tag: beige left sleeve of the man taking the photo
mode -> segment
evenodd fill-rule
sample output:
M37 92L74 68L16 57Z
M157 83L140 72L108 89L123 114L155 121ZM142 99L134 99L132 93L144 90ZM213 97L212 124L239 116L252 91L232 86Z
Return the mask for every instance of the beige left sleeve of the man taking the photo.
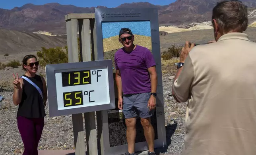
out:
M190 97L190 88L194 79L194 66L190 55L186 57L180 76L173 83L175 97L180 102L186 102Z

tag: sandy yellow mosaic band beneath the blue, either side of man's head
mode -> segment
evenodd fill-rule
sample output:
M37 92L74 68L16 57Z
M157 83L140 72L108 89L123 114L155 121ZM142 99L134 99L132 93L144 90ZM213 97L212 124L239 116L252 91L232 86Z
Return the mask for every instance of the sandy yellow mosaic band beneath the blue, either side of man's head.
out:
M107 52L112 51L114 49L122 48L123 45L119 43L118 37L119 36L113 36L110 38L103 39L103 51ZM148 36L134 34L134 44L138 44L148 49L152 49L151 37Z

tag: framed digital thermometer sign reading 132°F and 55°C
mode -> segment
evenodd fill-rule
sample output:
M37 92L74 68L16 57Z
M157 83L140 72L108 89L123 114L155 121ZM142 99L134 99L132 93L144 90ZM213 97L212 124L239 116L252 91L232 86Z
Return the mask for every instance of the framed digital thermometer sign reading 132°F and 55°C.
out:
M46 65L50 117L115 108L112 60Z

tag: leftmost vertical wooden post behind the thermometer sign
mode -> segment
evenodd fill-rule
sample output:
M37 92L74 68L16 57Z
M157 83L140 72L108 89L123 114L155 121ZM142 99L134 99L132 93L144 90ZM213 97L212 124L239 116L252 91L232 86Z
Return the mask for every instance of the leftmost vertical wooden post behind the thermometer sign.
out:
M77 19L66 20L68 62L78 62ZM82 113L72 115L76 155L85 155Z

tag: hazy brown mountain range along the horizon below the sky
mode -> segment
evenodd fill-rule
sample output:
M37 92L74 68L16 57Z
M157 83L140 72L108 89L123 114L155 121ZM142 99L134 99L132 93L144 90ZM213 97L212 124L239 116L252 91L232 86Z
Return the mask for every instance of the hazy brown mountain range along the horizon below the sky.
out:
M124 3L117 8L156 7L159 10L159 25L202 23L211 18L211 9L219 0L176 0L165 6L148 2ZM242 0L248 7L256 7L255 0ZM96 8L104 8L97 6ZM66 32L64 16L68 13L94 13L95 7L81 8L72 5L50 3L45 5L25 4L11 10L0 9L0 27L26 32ZM252 22L251 22L252 23Z

